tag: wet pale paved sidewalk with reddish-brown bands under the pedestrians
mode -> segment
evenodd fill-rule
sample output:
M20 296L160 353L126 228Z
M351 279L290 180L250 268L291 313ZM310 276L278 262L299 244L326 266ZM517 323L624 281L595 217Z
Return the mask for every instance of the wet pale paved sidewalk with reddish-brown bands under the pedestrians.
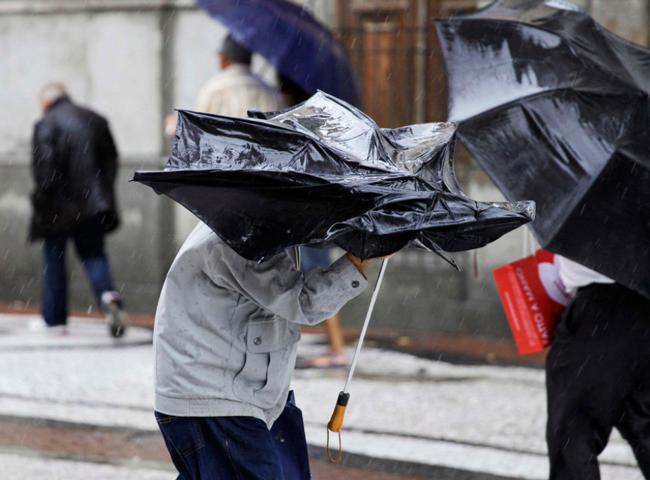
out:
M70 335L50 338L28 329L33 319L0 314L4 478L174 480L152 415L150 329L131 327L114 340L104 324L73 318ZM324 352L322 340L303 334L299 356ZM393 474L367 477L375 479L546 479L541 369L448 364L367 347L357 372L343 466L335 468ZM325 424L346 377L347 371L313 369L294 374L315 460L325 456ZM83 432L92 436L80 436L78 450L66 455L65 445L42 440L46 431L56 439L56 429L72 438L61 442L68 446ZM338 438L330 440L336 448ZM618 435L601 462L603 480L642 480ZM334 478L319 465L314 480Z

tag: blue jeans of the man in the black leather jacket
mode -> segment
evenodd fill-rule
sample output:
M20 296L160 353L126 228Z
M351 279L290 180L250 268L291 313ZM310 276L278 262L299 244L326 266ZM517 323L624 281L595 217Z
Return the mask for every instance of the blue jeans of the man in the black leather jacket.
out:
M104 230L99 219L89 219L68 235L46 238L43 244L43 318L49 326L65 325L68 318L68 278L66 242L74 241L97 304L102 292L114 290L111 271L104 254Z

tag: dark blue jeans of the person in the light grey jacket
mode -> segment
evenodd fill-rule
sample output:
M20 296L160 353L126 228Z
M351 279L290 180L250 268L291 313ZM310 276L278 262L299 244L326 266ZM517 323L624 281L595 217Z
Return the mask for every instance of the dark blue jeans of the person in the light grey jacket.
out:
M266 424L253 417L173 417L155 412L176 480L284 480Z

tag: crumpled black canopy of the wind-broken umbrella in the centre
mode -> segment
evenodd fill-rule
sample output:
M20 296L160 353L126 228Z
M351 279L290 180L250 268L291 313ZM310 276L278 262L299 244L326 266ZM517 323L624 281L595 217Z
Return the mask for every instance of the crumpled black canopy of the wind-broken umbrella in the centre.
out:
M180 111L167 167L133 178L193 211L247 259L332 243L364 259L406 246L469 250L534 216L531 202L462 193L453 123L383 130L323 92L253 114L262 118Z

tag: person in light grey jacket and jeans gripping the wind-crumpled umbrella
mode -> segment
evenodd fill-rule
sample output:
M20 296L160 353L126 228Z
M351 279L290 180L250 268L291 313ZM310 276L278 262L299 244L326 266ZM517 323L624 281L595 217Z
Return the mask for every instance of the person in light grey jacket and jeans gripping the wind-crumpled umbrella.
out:
M269 429L300 325L359 295L373 261L344 254L303 274L296 252L249 261L199 223L171 265L155 319L155 410L179 479L284 479Z

